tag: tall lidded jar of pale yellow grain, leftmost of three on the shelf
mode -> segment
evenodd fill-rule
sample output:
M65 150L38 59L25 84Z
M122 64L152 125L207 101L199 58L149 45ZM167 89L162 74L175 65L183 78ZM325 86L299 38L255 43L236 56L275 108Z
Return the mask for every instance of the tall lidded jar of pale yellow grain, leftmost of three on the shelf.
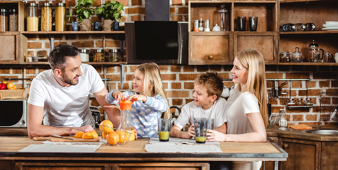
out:
M27 4L27 31L39 31L38 4Z

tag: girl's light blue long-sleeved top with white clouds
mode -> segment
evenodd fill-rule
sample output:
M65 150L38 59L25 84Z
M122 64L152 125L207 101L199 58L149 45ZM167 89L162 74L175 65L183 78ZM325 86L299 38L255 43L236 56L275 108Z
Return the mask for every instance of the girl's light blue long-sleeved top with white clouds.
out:
M112 96L114 91L109 92L105 100L109 104L116 105L119 101L115 100ZM139 94L132 91L123 92L124 97L127 97L131 94ZM137 130L137 136L143 138L159 137L157 119L161 118L163 112L167 110L167 102L160 95L157 94L154 97L147 97L147 101L143 103L142 101L135 101L130 110L130 119L132 125L135 126Z

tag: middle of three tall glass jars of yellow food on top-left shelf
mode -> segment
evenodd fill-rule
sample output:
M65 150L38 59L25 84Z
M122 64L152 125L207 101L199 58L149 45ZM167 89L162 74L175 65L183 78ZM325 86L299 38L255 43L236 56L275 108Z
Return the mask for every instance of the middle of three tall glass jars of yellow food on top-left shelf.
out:
M41 4L41 31L52 31L52 4Z

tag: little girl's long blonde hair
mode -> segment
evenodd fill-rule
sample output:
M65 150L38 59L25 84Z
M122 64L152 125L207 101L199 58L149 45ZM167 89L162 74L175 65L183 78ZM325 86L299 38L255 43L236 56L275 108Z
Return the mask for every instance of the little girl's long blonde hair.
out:
M154 62L143 63L136 67L136 70L139 70L141 74L144 76L143 79L143 89L146 96L153 97L156 94L160 94L164 100L167 102L167 110L164 112L163 118L171 118L170 117L170 107L167 99L166 92L164 91L164 87L162 84L162 78L159 66ZM150 87L146 88L146 87Z

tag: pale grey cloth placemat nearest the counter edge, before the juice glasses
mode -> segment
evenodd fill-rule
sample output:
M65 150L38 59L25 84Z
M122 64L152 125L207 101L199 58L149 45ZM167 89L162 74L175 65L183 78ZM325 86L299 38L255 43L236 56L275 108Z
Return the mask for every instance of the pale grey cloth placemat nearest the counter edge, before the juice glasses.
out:
M187 153L203 153L203 152L222 152L219 145L186 145L186 144L172 144L172 143L159 143L147 144L144 147L147 152L187 152Z

